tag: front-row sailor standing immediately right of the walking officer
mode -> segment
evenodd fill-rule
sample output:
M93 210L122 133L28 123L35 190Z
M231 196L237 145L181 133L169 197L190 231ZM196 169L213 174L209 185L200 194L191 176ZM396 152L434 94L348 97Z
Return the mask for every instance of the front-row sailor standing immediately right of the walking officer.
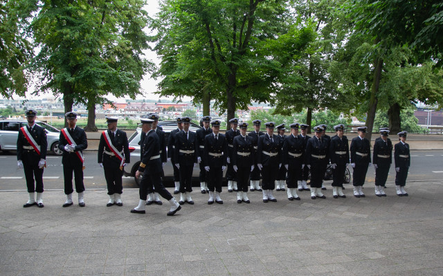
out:
M182 117L183 130L175 135L175 160L176 167L180 169L180 205L185 202L194 204L191 198L192 172L197 163L197 136L189 130L191 118Z

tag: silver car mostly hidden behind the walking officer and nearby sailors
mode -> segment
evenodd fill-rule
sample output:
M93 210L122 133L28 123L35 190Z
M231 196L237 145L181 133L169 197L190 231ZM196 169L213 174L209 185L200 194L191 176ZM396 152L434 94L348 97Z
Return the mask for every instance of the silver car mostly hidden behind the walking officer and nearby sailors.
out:
M175 121L161 121L159 122L159 126L163 127L163 131L165 131L166 140L168 140L169 134L172 130L177 129L177 122ZM195 123L191 122L189 127L190 131L197 131L200 127ZM136 171L141 163L141 149L138 142L140 142L141 136L141 127L138 127L134 134L129 137L129 151L131 151L131 163L127 165L123 171L125 176L134 177L134 181L136 184L139 184L139 179L135 178ZM167 149L168 150L168 149ZM163 167L163 171L165 172L165 176L163 179L171 180L174 178L174 169L172 168L172 163L168 161ZM192 178L198 178L200 173L199 166L194 167L194 172L192 173Z

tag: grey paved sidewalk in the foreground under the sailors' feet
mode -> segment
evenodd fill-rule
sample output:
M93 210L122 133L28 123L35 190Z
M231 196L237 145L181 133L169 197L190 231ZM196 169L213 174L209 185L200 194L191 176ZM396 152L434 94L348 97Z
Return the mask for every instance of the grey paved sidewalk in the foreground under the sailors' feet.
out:
M88 190L86 208L62 208L62 191L44 192L45 208L22 208L26 192L0 192L0 275L442 275L443 181L408 183L408 197L195 205L167 217L169 203L130 214L138 190L123 207L107 208L104 190ZM176 196L177 198L177 196ZM74 195L76 201L77 196Z

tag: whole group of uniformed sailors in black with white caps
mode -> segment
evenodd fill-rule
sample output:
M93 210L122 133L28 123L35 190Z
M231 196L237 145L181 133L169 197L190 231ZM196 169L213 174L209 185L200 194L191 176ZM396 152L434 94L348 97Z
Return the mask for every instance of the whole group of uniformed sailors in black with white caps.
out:
M43 208L43 171L46 167L46 133L35 124L37 111L26 111L28 125L22 127L17 139L17 165L24 169L29 199L25 208L37 205ZM73 205L73 176L78 205L84 207L82 151L87 148L87 136L76 126L78 114L65 114L68 127L60 132L59 149L63 151L64 208ZM98 164L103 168L107 182L109 201L107 206L123 206L123 167L130 160L127 134L117 128L118 118L107 117L108 129L102 131L98 147ZM325 135L327 125L314 127L315 136L307 136L309 125L294 122L290 134L285 135L284 124L266 122L266 132L260 131L261 121L253 120L254 130L247 132L248 123L230 119L231 129L221 134L220 120L210 116L201 119L202 127L190 131L191 118L177 118L177 129L171 131L168 140L158 126L159 116L150 114L141 119L141 163L136 171L140 178L139 202L132 213L145 214L146 205L162 205L159 195L170 202L168 216L181 210L181 205L192 201L192 172L199 164L200 191L208 194L208 204L223 204L222 180L226 171L228 192L237 193L237 203L250 203L248 191L262 192L264 203L276 202L274 191L286 191L289 201L300 200L298 192L310 191L311 199L325 199L323 178L327 166L333 169L332 195L345 198L343 182L345 171L353 169L354 196L365 197L363 185L368 167L375 169L375 195L386 196L384 188L392 164L392 141L389 129L379 129L380 137L374 142L372 161L370 141L365 138L366 127L357 129L358 136L351 144L344 135L345 126L336 125L333 137ZM277 133L274 133L274 129ZM300 134L299 134L300 131ZM398 196L408 196L405 190L410 166L409 145L406 131L399 134L395 144L395 187ZM174 168L174 194L179 202L163 186L163 166L170 160ZM260 186L261 178L261 186ZM309 183L307 183L310 178ZM308 185L310 187L308 187ZM37 193L37 199L35 198Z

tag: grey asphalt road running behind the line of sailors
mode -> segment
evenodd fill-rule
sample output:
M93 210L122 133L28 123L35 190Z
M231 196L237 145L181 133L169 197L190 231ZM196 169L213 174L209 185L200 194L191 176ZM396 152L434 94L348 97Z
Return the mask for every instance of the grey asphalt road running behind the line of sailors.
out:
M106 182L103 169L97 164L97 152L87 151L85 154L84 184L87 189L105 189ZM408 181L431 181L443 177L443 151L411 151L411 167ZM47 156L47 167L44 171L45 190L63 189L62 157ZM168 164L170 165L170 164ZM195 170L199 167L196 166ZM352 172L352 169L350 169ZM366 183L374 183L374 167L368 169ZM394 165L390 168L388 183L395 181ZM332 181L326 181L330 185ZM172 181L166 181L167 187L172 187ZM196 181L194 185L199 185ZM389 186L389 185L388 185ZM132 177L123 177L124 188L138 187ZM17 168L15 152L0 154L0 190L26 190L24 172Z

